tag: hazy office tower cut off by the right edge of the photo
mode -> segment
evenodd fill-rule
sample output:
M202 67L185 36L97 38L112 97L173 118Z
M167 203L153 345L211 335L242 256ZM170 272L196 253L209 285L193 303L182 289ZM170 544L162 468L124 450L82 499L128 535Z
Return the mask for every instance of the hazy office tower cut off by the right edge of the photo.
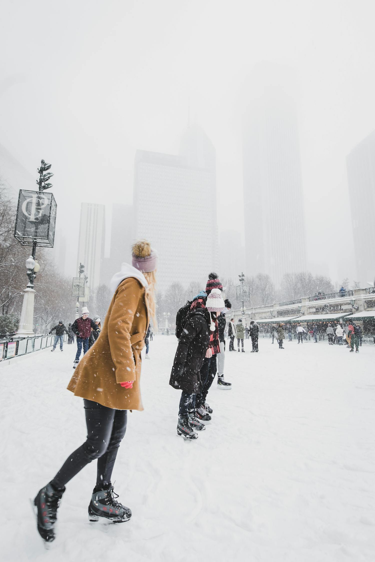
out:
M357 276L362 285L374 283L375 131L353 148L346 167Z

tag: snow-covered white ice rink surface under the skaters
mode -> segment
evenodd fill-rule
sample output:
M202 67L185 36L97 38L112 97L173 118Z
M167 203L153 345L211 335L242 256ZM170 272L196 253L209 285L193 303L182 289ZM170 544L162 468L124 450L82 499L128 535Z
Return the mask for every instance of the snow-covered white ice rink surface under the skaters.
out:
M143 362L144 412L129 414L114 470L133 517L90 525L95 463L68 485L57 539L43 549L29 504L85 439L82 400L66 391L75 346L0 366L2 559L11 562L370 562L375 559L375 347L260 339L227 353L230 391L213 384L213 423L177 436L168 386L177 340Z

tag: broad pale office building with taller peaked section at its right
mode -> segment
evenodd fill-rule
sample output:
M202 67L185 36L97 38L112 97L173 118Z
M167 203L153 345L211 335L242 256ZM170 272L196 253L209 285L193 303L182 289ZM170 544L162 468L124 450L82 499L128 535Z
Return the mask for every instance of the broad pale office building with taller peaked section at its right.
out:
M159 252L157 289L205 283L217 266L215 148L197 126L178 156L138 150L134 166L133 238Z

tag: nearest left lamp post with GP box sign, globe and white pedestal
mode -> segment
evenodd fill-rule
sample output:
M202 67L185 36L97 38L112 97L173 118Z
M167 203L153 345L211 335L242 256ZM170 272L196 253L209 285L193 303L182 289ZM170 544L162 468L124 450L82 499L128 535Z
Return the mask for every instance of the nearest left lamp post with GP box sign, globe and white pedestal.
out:
M53 193L44 193L52 187L48 180L53 174L47 172L51 164L42 160L38 168L39 191L20 189L17 216L15 225L15 238L22 246L32 246L31 256L26 260L26 275L29 283L24 289L24 301L17 336L32 336L34 320L34 279L39 271L39 264L35 261L37 246L53 248L55 241L55 225L57 205Z

